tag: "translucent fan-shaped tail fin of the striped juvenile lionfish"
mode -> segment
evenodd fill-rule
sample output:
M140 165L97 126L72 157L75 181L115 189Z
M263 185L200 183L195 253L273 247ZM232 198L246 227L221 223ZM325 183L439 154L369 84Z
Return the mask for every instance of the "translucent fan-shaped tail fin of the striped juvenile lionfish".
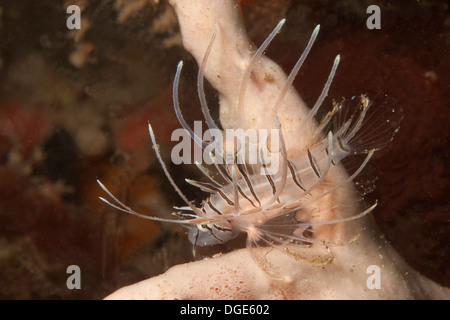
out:
M334 136L353 154L366 154L389 144L403 119L401 108L387 95L371 101L366 95L335 103Z

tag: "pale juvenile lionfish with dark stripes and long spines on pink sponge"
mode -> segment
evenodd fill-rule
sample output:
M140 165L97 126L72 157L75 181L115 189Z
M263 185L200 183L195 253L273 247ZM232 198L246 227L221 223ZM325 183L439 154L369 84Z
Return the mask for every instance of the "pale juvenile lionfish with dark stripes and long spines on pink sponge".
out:
M253 55L241 82L241 97L245 92L246 83L255 63L257 63L265 49L279 32L284 21L284 19L280 21ZM320 26L318 25L314 29L304 52L289 74L278 99L274 102L274 109L279 106L287 90L291 87L295 76L316 40L319 28ZM216 31L211 38L199 68L197 86L201 109L208 127L213 130L220 130L209 113L203 84L204 70L215 36ZM317 102L308 115L302 119L299 135L303 134L305 128L315 121L314 117L328 94L339 61L340 56L338 55L334 60L331 72ZM280 250L285 254L294 256L296 259L300 258L316 264L329 263L332 259L331 254L326 254L321 259L309 259L304 253L296 251L296 248L301 248L302 252L305 252L305 249L315 246L325 248L326 252L330 252L328 250L329 247L343 245L344 243L342 242L316 238L314 228L359 219L371 212L377 203L369 206L359 214L328 220L309 219L308 217L311 217L312 214L301 214L301 212L311 210L321 199L327 197L335 190L354 182L374 152L389 143L394 133L397 132L397 124L389 124L396 111L390 109L387 112L375 115L377 120L382 120L375 125L373 115L369 116L367 113L372 103L365 95L334 103L333 109L322 117L311 138L312 142L295 159L288 159L287 157L284 137L280 130L281 124L278 117L275 116L273 121L279 132L275 141L279 143L279 152L275 155L275 158L278 160L279 165L274 170L269 166L270 160L273 160L274 157L271 154L273 146L269 147L268 139L259 141L257 150L260 155L260 162L250 164L245 160L246 156L240 150L244 146L237 145L235 147L232 144L233 147L226 147L230 142L234 142L226 134L223 136L223 139L218 138L218 135L216 135L210 141L206 141L188 126L181 114L178 99L178 85L182 65L181 61L178 64L173 82L173 105L176 116L181 126L196 144L203 150L214 145L215 148L210 149L216 151L215 153L209 152L212 162L211 167L214 172L202 164L196 163L198 169L209 181L200 182L189 179L186 179L186 181L207 192L208 197L203 200L201 207L196 207L182 193L162 160L152 126L149 123L150 138L156 157L167 179L187 206L175 208L177 212L173 214L178 219L164 219L142 215L123 204L98 181L101 188L111 198L111 201L104 198L100 199L111 207L130 215L186 226L189 229L188 238L193 243L194 248L195 246L225 243L237 237L240 233L246 233L247 247L251 249L255 260L274 278L279 278L279 275L275 271L276 268L268 261L267 255L264 253L267 251L264 250ZM238 117L237 124L242 120L243 108L241 100L240 98L238 102L238 111L240 112L238 114L241 115L241 119ZM332 122L334 122L334 126L331 125ZM334 128L325 131L326 128L330 127ZM273 143L273 140L271 141ZM365 155L362 163L358 164L356 169L345 178L330 184L327 180L332 174L332 168L345 158L355 154ZM271 155L271 157L268 155ZM348 242L352 240L354 239L349 239ZM261 250L261 248L264 248L264 250Z

